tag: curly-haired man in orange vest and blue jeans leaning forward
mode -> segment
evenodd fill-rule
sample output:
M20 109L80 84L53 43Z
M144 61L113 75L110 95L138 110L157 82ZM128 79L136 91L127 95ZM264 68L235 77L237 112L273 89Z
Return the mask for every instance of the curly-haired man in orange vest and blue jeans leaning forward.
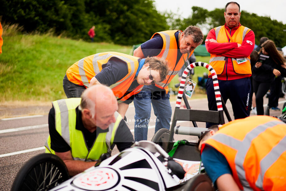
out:
M178 74L184 62L194 49L203 41L204 35L196 26L188 26L186 30L166 30L155 33L150 40L134 50L133 55L146 58L156 56L168 61L170 72L163 82L144 86L135 95L135 141L147 140L148 123L150 121L151 104L156 115L155 133L161 128L170 128L172 109L169 100L168 84Z

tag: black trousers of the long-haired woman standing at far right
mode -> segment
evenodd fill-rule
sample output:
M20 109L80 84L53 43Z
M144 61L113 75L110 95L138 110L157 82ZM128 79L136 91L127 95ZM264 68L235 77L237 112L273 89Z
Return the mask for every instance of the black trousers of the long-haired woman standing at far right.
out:
M252 79L252 86L253 91L255 93L255 101L256 101L256 111L257 115L263 115L264 114L264 108L263 108L263 97L267 93L267 91L270 88L271 82L258 82L254 79Z

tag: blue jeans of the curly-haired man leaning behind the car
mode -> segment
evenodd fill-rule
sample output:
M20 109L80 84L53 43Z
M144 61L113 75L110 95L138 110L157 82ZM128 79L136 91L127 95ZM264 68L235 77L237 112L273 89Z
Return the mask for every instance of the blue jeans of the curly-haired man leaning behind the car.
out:
M135 95L135 141L147 140L148 123L156 121L155 133L161 128L170 128L172 108L170 95L154 85L144 86L142 91ZM151 104L156 119L150 119Z

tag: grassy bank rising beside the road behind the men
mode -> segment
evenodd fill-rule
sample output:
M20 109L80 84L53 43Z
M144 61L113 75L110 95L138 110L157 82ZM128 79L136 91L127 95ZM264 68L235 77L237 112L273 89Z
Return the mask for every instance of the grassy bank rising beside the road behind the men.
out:
M105 51L130 54L131 46L88 43L52 34L20 34L9 28L3 33L0 56L0 103L50 102L66 98L62 79L67 68L85 56ZM13 32L14 31L14 32ZM208 62L209 58L197 57ZM193 79L206 69L195 68ZM176 79L174 82L177 83Z

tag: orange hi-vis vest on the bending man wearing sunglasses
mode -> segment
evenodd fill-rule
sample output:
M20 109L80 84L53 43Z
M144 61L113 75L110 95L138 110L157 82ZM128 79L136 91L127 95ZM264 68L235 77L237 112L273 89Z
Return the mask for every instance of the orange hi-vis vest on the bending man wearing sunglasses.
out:
M117 98L118 103L121 103L132 95L139 93L143 88L143 85L139 85L131 92L127 92L134 81L139 66L138 57L118 52L93 54L71 65L66 72L67 78L72 83L89 87L91 78L96 76L96 74L102 70L102 65L106 64L108 60L113 57L121 59L128 67L128 74L115 84L109 86Z

